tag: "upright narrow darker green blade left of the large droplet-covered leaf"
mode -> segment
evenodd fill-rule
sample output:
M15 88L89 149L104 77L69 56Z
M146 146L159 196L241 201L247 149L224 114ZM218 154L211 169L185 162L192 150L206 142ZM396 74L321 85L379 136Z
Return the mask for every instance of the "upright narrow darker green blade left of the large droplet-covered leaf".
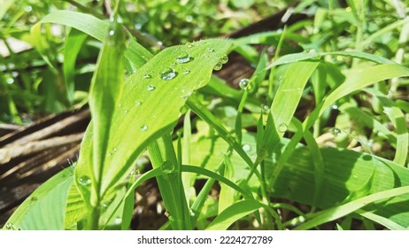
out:
M93 127L92 162L88 164L88 168L79 166L75 170L75 182L79 190L84 191L83 197L86 198L87 192L89 192L91 205L89 211L90 218L92 218L89 222L90 229L97 229L98 227L101 198L104 193L101 191L101 185L106 166L105 154L108 153L112 116L121 96L124 78L122 60L115 62L116 58L123 53L124 35L121 27L115 22L112 23L112 32L114 34L104 44L98 58L96 73L91 81L89 93L89 108ZM92 173L88 174L89 171Z

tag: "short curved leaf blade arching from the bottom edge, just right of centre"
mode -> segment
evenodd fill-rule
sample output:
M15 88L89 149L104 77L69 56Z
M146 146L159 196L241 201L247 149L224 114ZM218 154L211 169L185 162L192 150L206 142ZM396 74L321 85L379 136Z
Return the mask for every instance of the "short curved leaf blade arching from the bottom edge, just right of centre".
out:
M235 221L244 216L253 213L261 207L259 202L255 200L243 200L236 202L234 205L228 206L221 212L212 223L207 226L206 230L226 230Z

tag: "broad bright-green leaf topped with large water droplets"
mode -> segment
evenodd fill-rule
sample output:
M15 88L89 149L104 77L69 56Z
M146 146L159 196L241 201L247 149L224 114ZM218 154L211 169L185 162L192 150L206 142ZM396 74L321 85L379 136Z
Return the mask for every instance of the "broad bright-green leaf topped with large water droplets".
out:
M214 39L168 48L127 78L110 120L106 153L100 153L105 155L104 167L94 168L101 171L101 200L122 182L147 145L173 128L187 97L209 81L213 67L229 47L227 40ZM189 58L181 59L186 55ZM115 59L112 62L116 63ZM92 132L88 128L82 142L77 183L81 178L94 178L92 174L96 173L86 169L93 164L89 144ZM90 202L90 198L85 196L85 201Z

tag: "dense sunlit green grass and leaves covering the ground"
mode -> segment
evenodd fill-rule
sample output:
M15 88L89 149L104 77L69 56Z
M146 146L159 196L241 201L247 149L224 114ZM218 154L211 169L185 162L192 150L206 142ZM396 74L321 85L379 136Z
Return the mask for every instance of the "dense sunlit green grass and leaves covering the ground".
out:
M183 44L160 51L135 34L120 2L111 21L85 5L89 13L45 16L31 28L35 59L59 75L61 105L88 92L92 121L75 167L42 184L4 229L129 229L135 189L151 178L168 217L161 229L408 229L407 17L389 2L324 2L301 1L296 10L313 19L282 32L194 42L181 30L168 41ZM229 2L243 3L254 4ZM180 7L158 6L158 19ZM73 56L62 65L50 23L67 28ZM75 60L96 50L91 78ZM233 50L255 67L241 89L212 75ZM4 105L19 116L13 103ZM135 179L142 154L152 168ZM38 221L46 211L54 221Z

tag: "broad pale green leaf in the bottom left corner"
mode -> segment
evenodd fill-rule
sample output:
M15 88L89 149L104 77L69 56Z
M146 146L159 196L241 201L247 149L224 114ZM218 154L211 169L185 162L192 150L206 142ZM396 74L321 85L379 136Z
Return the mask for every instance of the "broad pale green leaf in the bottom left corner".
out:
M4 229L64 229L66 197L72 182L73 167L67 167L42 183L19 205L12 217L4 224Z

